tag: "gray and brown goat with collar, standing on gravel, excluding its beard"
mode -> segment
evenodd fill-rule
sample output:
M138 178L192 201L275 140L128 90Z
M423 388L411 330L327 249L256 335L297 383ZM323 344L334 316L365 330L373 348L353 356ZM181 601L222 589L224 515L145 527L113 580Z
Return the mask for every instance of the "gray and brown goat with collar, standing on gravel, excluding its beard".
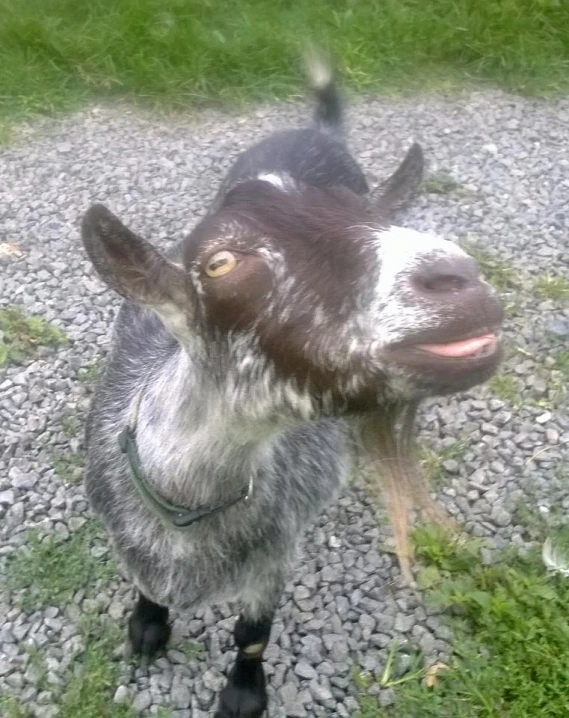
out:
M420 147L370 196L333 74L313 90L315 125L244 152L171 256L102 205L82 224L126 300L87 422L87 494L139 592L135 653L166 646L169 608L240 602L218 718L266 709L272 618L354 436L412 423L422 398L486 380L501 356L501 304L475 261L392 224Z

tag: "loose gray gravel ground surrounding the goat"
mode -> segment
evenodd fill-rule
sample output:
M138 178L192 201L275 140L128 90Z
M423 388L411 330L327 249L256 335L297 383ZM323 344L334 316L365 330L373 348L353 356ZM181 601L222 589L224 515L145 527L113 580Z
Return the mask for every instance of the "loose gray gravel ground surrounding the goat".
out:
M0 562L21 558L34 527L66 546L91 525L78 480L81 422L118 302L86 261L81 213L102 201L167 247L197 221L239 150L304 122L306 112L305 105L271 106L185 121L94 108L42 123L0 153L0 243L15 242L24 253L0 259L1 303L42 315L70 339L0 369ZM372 182L413 139L421 142L430 171L456 184L441 184L439 174L429 186L442 193L425 194L408 224L449 239L468 235L500 258L510 278L503 367L510 391L495 385L429 403L422 443L435 452L460 447L438 472L438 487L466 528L497 548L524 545L531 517L557 520L569 509L560 359L569 349L569 301L536 289L544 276L569 281L569 102L498 92L372 100L351 107L349 125L350 146ZM357 480L307 535L266 652L270 716L354 715L354 665L380 671L394 637L431 662L448 654L449 629L402 585L382 548L388 537ZM38 545L32 541L32 552ZM17 696L34 716L56 715L58 695L80 671L81 615L110 614L122 626L132 605L128 585L101 568L102 534L91 535L85 551L84 565L97 570L65 601L46 603L33 585L22 590L12 579L9 589L0 586L0 695ZM144 715L170 715L160 706L179 718L209 715L232 661L233 620L226 607L179 618L172 649L148 672L120 664L116 715L129 715L121 702ZM383 691L380 701L390 700Z

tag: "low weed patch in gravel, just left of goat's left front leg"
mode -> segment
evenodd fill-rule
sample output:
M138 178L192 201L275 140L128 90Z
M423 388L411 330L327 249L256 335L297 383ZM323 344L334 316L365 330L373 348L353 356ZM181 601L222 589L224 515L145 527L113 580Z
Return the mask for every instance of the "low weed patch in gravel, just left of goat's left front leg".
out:
M100 582L115 575L107 557L91 554L95 541L103 537L98 522L87 521L66 540L57 535L43 540L37 531L28 533L26 547L8 560L6 584L23 591L21 607L27 611L46 605L65 605L79 589L95 590Z

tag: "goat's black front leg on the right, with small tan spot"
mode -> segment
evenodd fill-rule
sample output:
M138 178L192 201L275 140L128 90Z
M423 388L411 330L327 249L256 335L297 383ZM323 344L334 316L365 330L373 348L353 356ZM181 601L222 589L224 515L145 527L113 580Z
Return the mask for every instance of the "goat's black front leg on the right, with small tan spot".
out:
M260 718L267 708L263 651L269 642L273 613L252 620L241 614L233 633L237 659L219 699L216 718Z

